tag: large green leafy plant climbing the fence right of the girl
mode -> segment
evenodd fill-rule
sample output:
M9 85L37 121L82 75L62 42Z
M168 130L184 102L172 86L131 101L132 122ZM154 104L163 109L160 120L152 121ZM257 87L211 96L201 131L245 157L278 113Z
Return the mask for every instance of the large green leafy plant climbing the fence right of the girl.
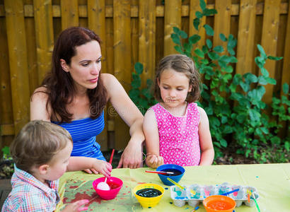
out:
M203 16L211 16L217 12L207 8L204 0L199 2L202 11L195 13L193 25L198 33L204 28L208 37L213 37L214 30L211 26L200 25L200 20ZM253 73L245 73L241 76L233 74L233 64L238 61L234 50L237 40L233 35L219 35L221 41L226 43L226 48L221 45L214 47L211 39L207 39L206 45L202 45L200 49L197 47L201 38L198 33L188 37L187 33L179 28L173 28L173 31L171 38L176 44L175 50L191 57L204 78L202 100L198 104L209 117L216 157L223 155L222 149L229 143L236 146L237 153L247 158L253 157L259 163L268 162L267 153L260 151L260 148L267 148L269 144L277 144L277 152L285 155L280 145L289 150L289 138L279 139L277 133L281 125L269 121L269 116L264 111L270 105L262 101L265 85L276 84L275 79L269 77L264 65L267 59L279 60L282 57L267 55L262 46L257 45L260 56L255 57L255 63L261 74L256 76ZM281 100L273 98L272 115L278 122L289 120L287 86L284 89L285 96Z

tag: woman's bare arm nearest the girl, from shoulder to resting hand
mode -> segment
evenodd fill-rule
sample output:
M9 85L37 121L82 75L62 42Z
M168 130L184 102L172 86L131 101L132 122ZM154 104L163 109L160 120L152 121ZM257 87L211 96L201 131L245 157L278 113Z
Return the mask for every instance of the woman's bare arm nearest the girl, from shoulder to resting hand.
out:
M109 73L102 73L102 76L104 86L108 91L108 100L130 128L131 139L124 149L117 167L137 168L142 161L142 144L145 139L142 131L144 117L115 76Z

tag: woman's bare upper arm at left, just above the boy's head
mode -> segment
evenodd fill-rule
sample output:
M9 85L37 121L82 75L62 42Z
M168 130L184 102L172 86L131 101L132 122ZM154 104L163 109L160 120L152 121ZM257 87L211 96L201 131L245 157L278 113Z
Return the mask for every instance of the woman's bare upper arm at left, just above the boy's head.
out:
M30 98L30 121L43 120L50 122L51 107L48 105L47 110L47 98L48 95L45 87L37 88Z

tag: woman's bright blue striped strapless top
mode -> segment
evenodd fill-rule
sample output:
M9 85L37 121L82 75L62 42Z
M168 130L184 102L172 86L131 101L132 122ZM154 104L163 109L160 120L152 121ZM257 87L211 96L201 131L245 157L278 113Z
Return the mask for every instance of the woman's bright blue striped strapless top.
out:
M71 123L52 122L62 126L69 131L74 142L71 156L84 156L105 160L103 153L100 151L100 144L95 141L95 136L100 134L104 127L104 111L96 119L91 117L74 120Z

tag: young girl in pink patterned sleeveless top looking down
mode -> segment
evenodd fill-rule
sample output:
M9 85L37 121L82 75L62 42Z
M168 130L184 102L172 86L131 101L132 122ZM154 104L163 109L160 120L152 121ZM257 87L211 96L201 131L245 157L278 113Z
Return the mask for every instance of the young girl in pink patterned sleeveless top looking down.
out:
M200 96L199 73L192 59L172 54L158 64L154 88L158 104L145 114L146 164L211 165L214 147Z

